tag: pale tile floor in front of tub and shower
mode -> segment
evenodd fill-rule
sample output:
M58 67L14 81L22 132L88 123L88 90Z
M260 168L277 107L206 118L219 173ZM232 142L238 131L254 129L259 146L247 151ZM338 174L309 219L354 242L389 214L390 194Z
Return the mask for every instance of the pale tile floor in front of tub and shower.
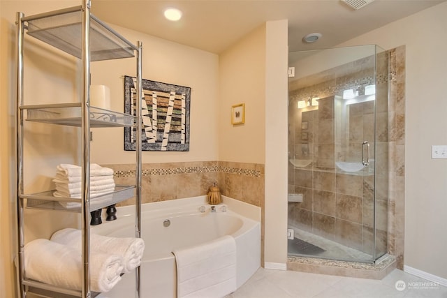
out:
M377 281L261 268L247 283L226 298L289 297L447 298L447 288L399 269L395 269L381 281Z

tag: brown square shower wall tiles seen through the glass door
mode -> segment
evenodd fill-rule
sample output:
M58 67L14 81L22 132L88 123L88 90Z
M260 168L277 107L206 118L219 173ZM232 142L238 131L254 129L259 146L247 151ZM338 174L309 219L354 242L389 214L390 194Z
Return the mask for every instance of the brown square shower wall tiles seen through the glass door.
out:
M309 158L313 163L305 168L289 163L288 191L302 193L303 202L288 203L288 222L293 227L372 254L372 232L368 233L367 229L372 231L373 227L373 181L370 176L342 174L335 169L335 103L335 97L330 96L318 100L318 110L301 113L293 109L307 124L299 125L291 150L295 149L295 158ZM351 110L354 121L350 125L356 129L351 129L350 146L359 142L357 138L363 140L364 127L374 127L372 112L372 103ZM303 132L305 137L301 137ZM302 147L309 147L308 155L302 154Z

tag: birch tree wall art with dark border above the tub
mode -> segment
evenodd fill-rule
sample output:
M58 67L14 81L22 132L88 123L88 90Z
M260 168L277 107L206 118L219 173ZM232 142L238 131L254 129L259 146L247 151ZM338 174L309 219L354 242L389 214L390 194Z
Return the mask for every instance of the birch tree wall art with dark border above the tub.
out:
M136 78L124 76L124 113L136 113ZM142 80L142 151L189 151L191 88ZM124 150L135 151L135 127L124 128Z

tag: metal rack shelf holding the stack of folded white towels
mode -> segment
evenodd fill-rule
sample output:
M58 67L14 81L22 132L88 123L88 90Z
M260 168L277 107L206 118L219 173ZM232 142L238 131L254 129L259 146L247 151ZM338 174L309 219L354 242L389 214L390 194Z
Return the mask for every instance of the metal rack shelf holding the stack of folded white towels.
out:
M81 212L81 199L54 197L54 190L31 195L21 195L27 199L27 208L50 209L59 211ZM90 198L90 211L108 207L112 204L133 198L135 186L116 186L115 191L95 198ZM75 204L73 206L73 203Z

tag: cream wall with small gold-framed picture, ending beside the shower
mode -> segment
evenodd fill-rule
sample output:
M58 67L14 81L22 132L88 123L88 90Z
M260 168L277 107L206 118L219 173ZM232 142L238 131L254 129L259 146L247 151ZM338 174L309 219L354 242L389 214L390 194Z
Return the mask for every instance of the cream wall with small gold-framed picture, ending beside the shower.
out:
M287 20L266 22L220 57L219 160L265 164L266 266L287 260ZM230 124L245 103L245 124Z

